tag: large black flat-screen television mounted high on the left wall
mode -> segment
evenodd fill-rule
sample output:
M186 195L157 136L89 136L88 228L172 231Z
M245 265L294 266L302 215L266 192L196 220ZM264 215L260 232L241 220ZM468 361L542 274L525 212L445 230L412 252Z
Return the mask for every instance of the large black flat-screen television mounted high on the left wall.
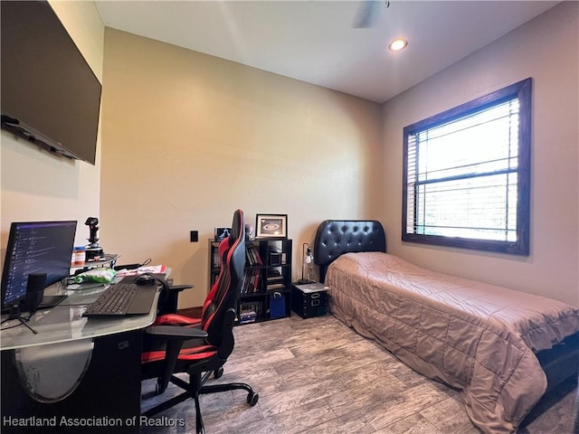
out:
M94 165L100 81L47 2L0 7L2 126Z

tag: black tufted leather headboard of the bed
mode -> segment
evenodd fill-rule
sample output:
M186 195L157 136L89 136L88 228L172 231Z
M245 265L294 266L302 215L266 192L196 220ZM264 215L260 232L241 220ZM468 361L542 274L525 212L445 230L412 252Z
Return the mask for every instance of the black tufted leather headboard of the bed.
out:
M314 241L314 262L324 282L329 264L351 251L386 251L386 234L375 220L326 220L319 223Z

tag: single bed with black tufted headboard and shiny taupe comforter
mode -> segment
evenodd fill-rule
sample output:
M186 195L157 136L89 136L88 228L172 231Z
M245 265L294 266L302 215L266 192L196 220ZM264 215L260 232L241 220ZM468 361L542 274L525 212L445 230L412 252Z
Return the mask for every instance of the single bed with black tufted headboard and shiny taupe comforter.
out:
M460 390L484 432L516 431L546 392L577 376L575 307L417 267L386 253L376 221L321 222L314 258L330 312Z

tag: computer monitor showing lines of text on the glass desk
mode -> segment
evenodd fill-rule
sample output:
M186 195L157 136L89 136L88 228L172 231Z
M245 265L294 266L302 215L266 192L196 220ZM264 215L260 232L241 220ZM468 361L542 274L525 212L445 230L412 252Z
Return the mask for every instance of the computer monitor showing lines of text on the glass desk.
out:
M26 297L28 275L45 273L45 287L70 274L76 221L13 222L2 273L2 309Z

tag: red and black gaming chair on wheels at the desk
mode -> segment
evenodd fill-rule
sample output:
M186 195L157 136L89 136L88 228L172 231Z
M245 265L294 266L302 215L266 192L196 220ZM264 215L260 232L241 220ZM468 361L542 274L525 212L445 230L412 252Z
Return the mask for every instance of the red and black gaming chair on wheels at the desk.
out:
M199 395L242 389L247 402L255 405L259 395L242 382L205 385L212 373L220 377L223 364L233 352L233 323L241 294L245 266L245 226L242 210L233 213L231 235L219 246L222 267L205 299L201 318L167 314L147 328L142 354L143 380L157 378L157 393L166 391L169 382L184 389L180 395L147 410L153 416L192 398L195 401L197 433L204 432ZM189 382L174 373L188 373Z

